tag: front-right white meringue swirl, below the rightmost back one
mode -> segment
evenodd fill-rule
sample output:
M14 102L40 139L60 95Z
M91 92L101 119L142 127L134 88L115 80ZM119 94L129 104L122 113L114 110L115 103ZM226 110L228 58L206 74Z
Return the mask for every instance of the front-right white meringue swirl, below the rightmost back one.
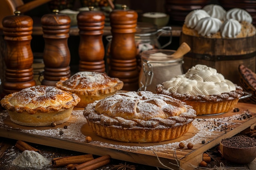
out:
M223 38L235 38L241 32L242 26L238 20L226 20L220 27L221 36Z

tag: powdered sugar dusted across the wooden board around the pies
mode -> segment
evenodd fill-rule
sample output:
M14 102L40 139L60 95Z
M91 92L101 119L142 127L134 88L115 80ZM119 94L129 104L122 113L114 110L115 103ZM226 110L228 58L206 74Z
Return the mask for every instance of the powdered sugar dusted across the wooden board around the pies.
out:
M118 150L126 150L131 152L136 152L137 150L144 150L144 151L159 151L170 153L173 150L177 150L177 146L180 142L184 142L186 144L202 144L202 140L205 139L212 139L214 133L222 132L225 133L226 131L232 130L235 124L240 124L240 120L242 119L250 119L249 111L240 111L239 113L232 115L230 117L221 117L221 118L210 118L205 117L204 119L196 118L193 121L193 127L197 130L193 132L193 136L189 139L182 139L182 141L168 141L164 144L155 143L154 145L150 146L141 146L141 145L130 145L128 146L126 143L124 145L121 144L110 144L103 141L91 141L90 144L103 146L108 148L115 148ZM8 113L3 111L0 113L0 127L8 128L8 129L15 129L13 127L9 127L4 124L4 119L8 117ZM236 123L234 123L234 121ZM72 111L72 122L67 126L67 128L54 128L50 127L49 129L45 130L38 130L38 129L19 129L21 132L45 137L52 137L57 139L69 140L69 141L78 141L78 142L85 142L85 135L81 132L81 128L85 125L86 119L83 116L83 110L73 110ZM63 134L60 134L60 131L63 131ZM208 142L208 141L206 141ZM180 148L179 148L180 149Z

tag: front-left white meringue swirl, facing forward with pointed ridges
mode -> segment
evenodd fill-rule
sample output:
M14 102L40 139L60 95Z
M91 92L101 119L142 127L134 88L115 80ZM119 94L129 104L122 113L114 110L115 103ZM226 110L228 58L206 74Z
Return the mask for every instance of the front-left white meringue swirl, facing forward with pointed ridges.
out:
M218 18L206 17L198 21L195 30L198 31L199 35L210 36L220 30L222 22Z

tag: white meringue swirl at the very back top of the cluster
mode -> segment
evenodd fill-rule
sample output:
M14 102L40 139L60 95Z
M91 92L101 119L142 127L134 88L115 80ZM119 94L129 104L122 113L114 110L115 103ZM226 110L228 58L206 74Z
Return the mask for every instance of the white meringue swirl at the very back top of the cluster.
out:
M206 5L203 7L203 10L206 11L212 18L218 18L219 20L224 20L226 15L226 10L217 4Z

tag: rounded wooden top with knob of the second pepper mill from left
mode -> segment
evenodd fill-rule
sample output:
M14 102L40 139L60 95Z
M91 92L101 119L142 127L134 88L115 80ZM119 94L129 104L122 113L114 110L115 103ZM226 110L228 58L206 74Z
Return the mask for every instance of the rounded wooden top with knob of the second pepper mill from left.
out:
M70 17L63 13L59 13L58 9L53 10L53 13L43 15L41 18L41 24L43 26L69 25L70 27L70 22Z

